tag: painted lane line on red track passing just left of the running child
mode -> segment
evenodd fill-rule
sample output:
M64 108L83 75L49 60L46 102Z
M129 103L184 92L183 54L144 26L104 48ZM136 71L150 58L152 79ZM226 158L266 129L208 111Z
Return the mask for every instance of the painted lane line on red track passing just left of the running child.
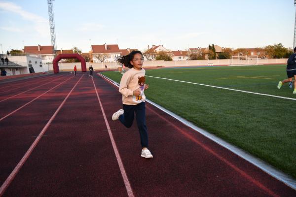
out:
M100 106L101 106L101 110L102 110L102 113L103 113L103 116L104 116L104 120L105 120L105 123L106 123L106 126L107 126L107 130L108 130L108 133L109 133L109 137L111 139L112 147L113 147L113 150L114 150L114 153L115 153L115 156L116 156L117 163L119 165L119 169L120 169L120 172L121 172L121 176L123 178L123 181L124 181L124 185L125 185L127 194L128 194L129 197L134 197L132 187L131 187L130 182L128 180L128 177L126 175L126 172L125 172L123 163L121 161L120 154L118 152L118 149L117 149L115 140L113 138L112 131L110 129L110 126L109 126L109 123L108 123L108 120L107 120L107 117L106 117L106 114L105 114L105 111L104 111L104 108L103 108L101 99L99 97L99 94L98 94L98 91L97 91L97 88L96 88L96 85L95 85L95 82L94 82L94 79L92 79L92 81L93 81L93 84L94 84L94 87L95 87L95 90L96 90L97 98L98 98L99 103L100 103Z

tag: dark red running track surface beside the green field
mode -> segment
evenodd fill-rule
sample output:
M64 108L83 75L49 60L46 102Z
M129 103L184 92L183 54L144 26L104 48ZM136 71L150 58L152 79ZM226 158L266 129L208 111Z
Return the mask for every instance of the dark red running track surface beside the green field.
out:
M122 108L116 87L99 76L94 83L88 74L57 76L0 102L2 118L35 99L0 121L0 196L296 196L295 190L149 103L154 158L141 158L136 124L127 129L111 120Z

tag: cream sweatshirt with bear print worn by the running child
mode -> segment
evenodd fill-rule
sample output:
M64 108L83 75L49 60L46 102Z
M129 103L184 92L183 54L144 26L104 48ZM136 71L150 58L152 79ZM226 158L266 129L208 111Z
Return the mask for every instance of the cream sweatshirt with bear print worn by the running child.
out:
M135 90L140 88L139 78L145 76L145 69L136 70L135 68L131 68L126 71L120 80L119 92L122 95L122 103L128 105L136 105L141 102L145 102L145 94L144 89L141 90L140 97L133 96Z

